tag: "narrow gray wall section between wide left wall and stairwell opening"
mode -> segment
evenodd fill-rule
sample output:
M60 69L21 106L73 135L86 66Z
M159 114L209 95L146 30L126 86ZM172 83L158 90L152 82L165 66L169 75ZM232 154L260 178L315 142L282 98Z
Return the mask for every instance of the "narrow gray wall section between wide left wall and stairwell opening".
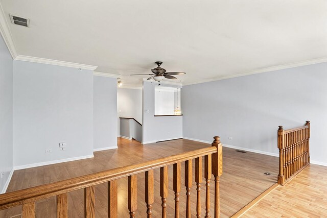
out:
M94 149L117 148L117 79L94 77Z

